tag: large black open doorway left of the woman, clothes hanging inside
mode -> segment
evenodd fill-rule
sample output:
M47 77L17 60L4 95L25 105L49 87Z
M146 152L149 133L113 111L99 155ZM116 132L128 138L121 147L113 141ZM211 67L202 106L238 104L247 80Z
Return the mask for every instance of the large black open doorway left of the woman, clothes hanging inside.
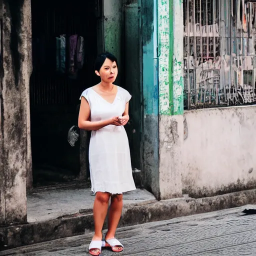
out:
M34 186L72 181L79 174L79 142L71 147L67 131L77 124L76 108L82 90L96 82L93 64L97 54L97 2L31 0L30 116ZM70 42L71 35L77 37L72 37ZM77 38L83 38L84 57L83 65L79 65L73 75L69 49L75 48L70 45L77 42ZM76 54L76 70L75 60Z

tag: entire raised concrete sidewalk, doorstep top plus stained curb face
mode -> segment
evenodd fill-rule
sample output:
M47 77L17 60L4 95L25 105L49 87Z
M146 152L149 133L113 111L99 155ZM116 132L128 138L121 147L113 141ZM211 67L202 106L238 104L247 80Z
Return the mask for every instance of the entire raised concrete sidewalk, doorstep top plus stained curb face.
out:
M93 199L86 188L56 187L33 191L27 196L28 223L0 227L0 250L91 232ZM119 227L255 203L256 189L161 201L148 191L137 189L124 194Z

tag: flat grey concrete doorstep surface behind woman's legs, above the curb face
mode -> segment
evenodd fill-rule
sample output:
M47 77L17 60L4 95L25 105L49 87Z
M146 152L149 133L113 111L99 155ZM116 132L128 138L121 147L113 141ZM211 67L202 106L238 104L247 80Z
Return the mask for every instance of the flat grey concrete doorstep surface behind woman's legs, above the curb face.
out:
M124 193L123 204L156 201L145 189ZM27 195L27 221L46 221L82 213L91 213L94 195L89 188L57 187L37 189Z

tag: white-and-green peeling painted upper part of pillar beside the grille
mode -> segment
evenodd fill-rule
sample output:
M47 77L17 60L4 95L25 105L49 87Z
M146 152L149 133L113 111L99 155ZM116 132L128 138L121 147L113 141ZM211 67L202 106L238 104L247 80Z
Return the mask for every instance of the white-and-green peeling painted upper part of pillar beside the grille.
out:
M159 113L183 114L183 2L158 0Z

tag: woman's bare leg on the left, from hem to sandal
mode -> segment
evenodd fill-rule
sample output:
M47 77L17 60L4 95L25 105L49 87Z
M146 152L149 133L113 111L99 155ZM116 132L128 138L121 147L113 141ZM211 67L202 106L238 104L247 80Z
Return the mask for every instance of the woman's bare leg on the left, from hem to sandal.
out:
M107 214L110 194L107 192L96 192L93 205L94 235L92 240L102 239L102 228Z

